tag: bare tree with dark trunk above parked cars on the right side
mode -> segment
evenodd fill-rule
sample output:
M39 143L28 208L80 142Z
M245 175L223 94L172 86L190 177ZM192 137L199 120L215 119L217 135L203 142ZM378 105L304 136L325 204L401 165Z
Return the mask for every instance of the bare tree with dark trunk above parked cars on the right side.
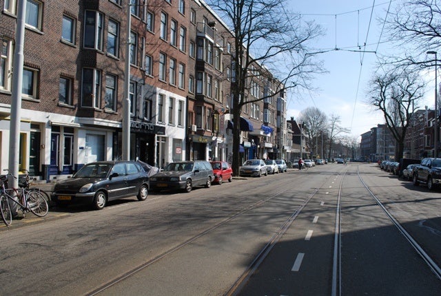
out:
M395 159L400 160L413 109L424 95L424 83L418 72L394 67L385 74L376 74L370 84L370 103L382 111L397 143Z

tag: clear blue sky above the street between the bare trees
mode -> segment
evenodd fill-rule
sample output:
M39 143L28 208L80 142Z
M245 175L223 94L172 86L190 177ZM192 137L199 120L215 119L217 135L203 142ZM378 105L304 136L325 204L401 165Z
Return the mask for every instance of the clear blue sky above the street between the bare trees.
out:
M401 2L391 1L391 10ZM342 127L350 128L354 137L359 137L378 123L384 123L382 114L374 112L366 102L369 96L369 80L378 61L376 54L371 52L387 54L393 50L387 43L386 34L383 33L380 39L382 23L379 19L386 16L389 1L296 0L289 3L289 10L300 13L305 21L314 19L325 29L325 36L311 46L317 51L331 51L316 56L324 61L328 73L315 76L311 82L314 89L303 92L300 97L292 92L288 94L287 116L296 118L303 109L318 107L328 116L339 115ZM339 50L332 50L336 47ZM433 83L429 82L429 87L431 84ZM433 108L433 94L430 89L427 97L425 105ZM420 105L424 106L424 103Z

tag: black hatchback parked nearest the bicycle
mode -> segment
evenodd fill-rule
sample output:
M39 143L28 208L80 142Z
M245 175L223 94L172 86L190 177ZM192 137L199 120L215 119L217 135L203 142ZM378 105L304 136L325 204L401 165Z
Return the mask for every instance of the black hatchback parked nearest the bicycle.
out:
M136 161L91 162L72 178L54 185L52 200L60 207L68 204L90 204L103 209L108 201L136 195L147 199L149 176Z

